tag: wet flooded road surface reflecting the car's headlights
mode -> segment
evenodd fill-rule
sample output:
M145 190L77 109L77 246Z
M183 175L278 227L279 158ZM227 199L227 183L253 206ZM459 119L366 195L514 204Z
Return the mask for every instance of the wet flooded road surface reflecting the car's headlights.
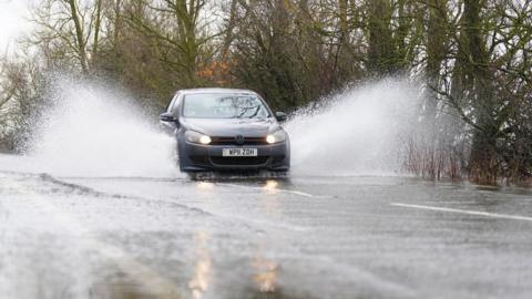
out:
M0 165L0 298L532 295L525 189L13 168Z

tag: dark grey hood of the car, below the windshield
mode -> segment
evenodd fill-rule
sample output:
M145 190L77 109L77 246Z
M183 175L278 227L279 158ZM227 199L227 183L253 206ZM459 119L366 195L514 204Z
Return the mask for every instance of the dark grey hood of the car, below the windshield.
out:
M262 137L280 128L273 118L243 120L243 118L180 118L181 125L208 136Z

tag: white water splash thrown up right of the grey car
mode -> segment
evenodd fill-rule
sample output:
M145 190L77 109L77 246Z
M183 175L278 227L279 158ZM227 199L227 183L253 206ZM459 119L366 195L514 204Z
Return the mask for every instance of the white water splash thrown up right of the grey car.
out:
M319 109L303 109L285 127L294 175L390 175L419 109L419 89L383 80L350 89Z

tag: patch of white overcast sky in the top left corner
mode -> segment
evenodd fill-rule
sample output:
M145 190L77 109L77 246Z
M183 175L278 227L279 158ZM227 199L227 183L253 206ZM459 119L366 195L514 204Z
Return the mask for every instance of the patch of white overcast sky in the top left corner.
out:
M28 10L32 0L0 0L0 51L14 50L14 40L30 31Z

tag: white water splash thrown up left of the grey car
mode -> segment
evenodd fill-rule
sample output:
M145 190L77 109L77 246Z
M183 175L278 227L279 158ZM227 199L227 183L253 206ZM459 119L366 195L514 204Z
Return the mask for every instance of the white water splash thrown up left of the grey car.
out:
M54 106L32 141L30 158L61 176L174 176L174 140L158 132L126 95L60 80Z

